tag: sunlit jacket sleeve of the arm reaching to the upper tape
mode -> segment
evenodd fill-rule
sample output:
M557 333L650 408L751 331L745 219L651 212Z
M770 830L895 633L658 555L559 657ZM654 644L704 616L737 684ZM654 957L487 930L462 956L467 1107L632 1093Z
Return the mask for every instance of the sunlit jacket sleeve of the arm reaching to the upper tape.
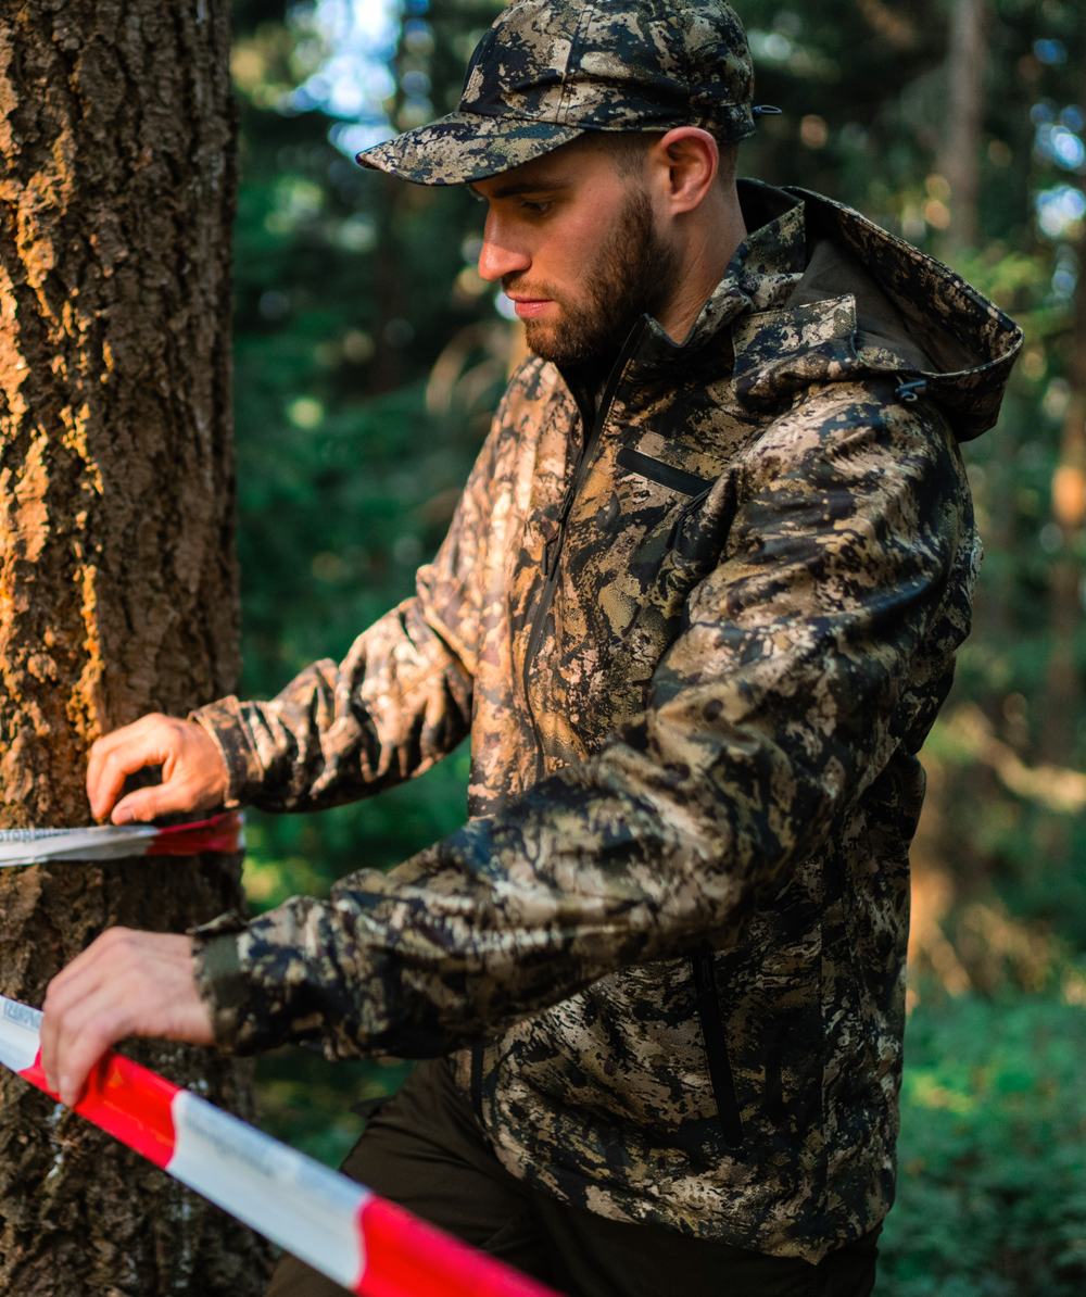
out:
M492 438L416 594L355 639L338 665L307 667L268 703L224 698L192 713L229 772L227 805L319 811L421 774L470 728Z

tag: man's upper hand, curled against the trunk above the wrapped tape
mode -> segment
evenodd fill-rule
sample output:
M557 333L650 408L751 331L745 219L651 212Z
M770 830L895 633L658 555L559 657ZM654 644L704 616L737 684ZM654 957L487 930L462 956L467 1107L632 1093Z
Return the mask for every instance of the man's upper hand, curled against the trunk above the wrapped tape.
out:
M162 767L162 783L117 802L127 776L145 765ZM207 730L158 712L100 738L87 767L91 811L104 820L113 808L114 824L207 811L223 804L228 787L225 763Z

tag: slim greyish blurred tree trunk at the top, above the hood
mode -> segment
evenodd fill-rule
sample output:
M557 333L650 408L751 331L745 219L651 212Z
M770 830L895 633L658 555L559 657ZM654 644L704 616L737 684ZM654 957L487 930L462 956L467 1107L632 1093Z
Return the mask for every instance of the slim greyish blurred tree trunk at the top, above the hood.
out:
M980 143L988 70L985 0L954 0L946 58L949 119L940 169L950 183L950 227L942 252L977 245Z

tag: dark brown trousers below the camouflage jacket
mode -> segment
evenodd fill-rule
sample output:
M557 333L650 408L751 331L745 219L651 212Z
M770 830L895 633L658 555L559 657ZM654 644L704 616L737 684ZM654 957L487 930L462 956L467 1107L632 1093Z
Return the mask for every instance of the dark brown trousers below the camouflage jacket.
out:
M499 1165L443 1060L380 1109L342 1170L569 1297L870 1297L875 1287L879 1230L811 1266L546 1197ZM346 1292L284 1253L267 1297Z

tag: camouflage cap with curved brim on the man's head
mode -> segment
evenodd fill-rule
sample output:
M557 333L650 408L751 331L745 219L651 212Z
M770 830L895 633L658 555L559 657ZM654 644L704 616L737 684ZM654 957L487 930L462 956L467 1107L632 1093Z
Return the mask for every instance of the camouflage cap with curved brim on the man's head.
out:
M754 134L754 74L724 0L521 0L478 43L455 113L358 161L416 184L463 184L586 131L700 126Z

